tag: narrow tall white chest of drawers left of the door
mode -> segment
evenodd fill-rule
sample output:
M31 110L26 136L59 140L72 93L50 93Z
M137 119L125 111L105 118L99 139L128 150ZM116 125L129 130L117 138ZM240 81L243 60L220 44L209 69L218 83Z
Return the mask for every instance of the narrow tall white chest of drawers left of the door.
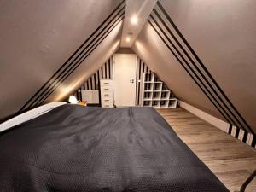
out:
M102 108L113 108L113 79L100 79Z

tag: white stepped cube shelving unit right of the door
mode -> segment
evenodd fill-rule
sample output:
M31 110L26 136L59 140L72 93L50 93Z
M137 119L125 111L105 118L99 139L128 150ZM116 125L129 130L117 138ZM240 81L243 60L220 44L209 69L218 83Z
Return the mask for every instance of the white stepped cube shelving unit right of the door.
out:
M163 82L158 81L154 73L143 73L141 83L141 106L153 108L177 108L177 98L171 96L171 90L162 90Z

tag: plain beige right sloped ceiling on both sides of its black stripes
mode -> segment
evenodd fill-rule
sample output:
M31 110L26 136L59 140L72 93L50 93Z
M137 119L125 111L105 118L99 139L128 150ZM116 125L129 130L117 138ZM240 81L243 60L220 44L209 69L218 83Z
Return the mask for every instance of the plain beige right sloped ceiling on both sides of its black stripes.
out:
M256 131L256 2L159 2L230 102ZM176 96L223 119L149 23L132 49L172 87Z

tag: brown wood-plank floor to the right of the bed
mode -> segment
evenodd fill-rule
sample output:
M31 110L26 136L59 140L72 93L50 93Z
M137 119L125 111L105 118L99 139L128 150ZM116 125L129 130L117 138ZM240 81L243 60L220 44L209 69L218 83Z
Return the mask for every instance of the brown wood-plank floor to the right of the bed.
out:
M256 150L199 119L183 108L158 109L184 143L230 189L241 184L256 169ZM247 190L256 192L256 178Z

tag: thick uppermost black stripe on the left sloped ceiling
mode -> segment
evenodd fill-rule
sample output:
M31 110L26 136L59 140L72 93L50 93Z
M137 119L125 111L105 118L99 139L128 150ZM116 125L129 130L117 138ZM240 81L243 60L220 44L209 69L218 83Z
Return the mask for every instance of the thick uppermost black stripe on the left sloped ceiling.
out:
M95 30L92 34L90 34L90 37L87 38L87 39L84 41L84 43L79 46L79 49L77 49L77 50L73 53L73 55L71 55L71 56L67 59L67 61L66 61L64 64L62 64L62 66L61 66L61 67L49 78L49 80L48 80L46 83L44 83L44 85L43 85L43 86L25 103L25 105L23 105L22 108L20 108L20 110L19 110L16 114L19 114L21 111L23 111L23 109L26 108L27 105L28 105L30 102L32 102L32 100L41 92L41 90L44 90L45 86L47 86L47 84L49 84L49 82L52 81L52 80L55 78L55 75L57 75L57 73L61 72L61 70L62 70L63 67L66 67L66 66L69 66L69 65L70 65L70 64L67 65L67 63L68 63L69 61L71 61L71 60L73 59L73 57L74 57L77 53L79 53L80 49L83 48L84 44L86 44L86 43L90 40L90 38L92 38L92 37L96 34L96 32L98 32L98 30L107 22L107 20L108 20L111 16L113 16L113 14L116 12L116 10L118 10L124 2L125 2L125 0L123 0L121 3L119 3L119 5L118 5L115 9L113 9L113 11L111 12L111 14L108 15L108 17L107 17L105 20L103 20L102 24L101 24L100 26L98 26L98 27L96 28L96 30ZM48 89L48 88L47 88L47 89ZM46 89L46 90L47 90L47 89ZM42 94L40 94L40 95L42 95ZM39 95L39 96L40 96L40 95ZM36 101L36 100L35 100L35 101ZM32 102L32 103L34 103L34 102ZM28 108L30 108L31 106L32 106L32 105L30 104Z

